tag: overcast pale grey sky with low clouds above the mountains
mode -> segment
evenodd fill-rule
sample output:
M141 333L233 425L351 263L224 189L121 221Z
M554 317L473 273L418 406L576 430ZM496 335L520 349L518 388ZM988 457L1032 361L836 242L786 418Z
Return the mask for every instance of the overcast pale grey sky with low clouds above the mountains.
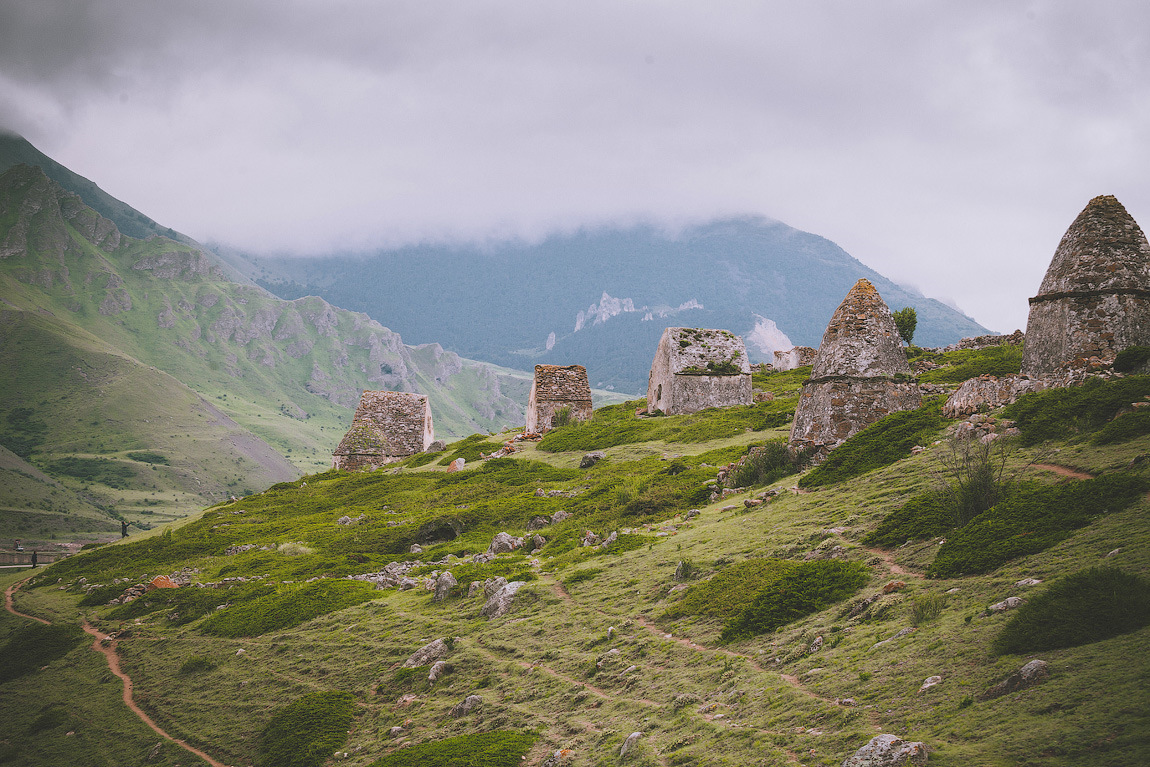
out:
M0 126L200 240L759 214L1009 332L1091 197L1150 225L1148 36L1145 0L0 0Z

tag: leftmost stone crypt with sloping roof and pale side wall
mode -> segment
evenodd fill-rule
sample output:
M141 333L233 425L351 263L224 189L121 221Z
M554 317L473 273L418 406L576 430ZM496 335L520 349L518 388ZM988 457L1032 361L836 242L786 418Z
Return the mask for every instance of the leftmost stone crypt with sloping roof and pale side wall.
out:
M346 471L377 469L422 453L432 442L435 429L427 394L366 391L331 465Z

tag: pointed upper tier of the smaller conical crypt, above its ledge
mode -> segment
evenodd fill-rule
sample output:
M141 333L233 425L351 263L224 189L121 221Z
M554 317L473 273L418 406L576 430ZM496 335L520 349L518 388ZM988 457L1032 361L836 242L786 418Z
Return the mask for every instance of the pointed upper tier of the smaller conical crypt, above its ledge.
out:
M811 378L910 373L890 309L869 279L859 279L830 317Z

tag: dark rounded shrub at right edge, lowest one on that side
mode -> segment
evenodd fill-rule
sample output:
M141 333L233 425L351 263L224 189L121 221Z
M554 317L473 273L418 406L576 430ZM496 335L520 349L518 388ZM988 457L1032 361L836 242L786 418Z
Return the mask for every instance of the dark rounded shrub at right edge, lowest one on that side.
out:
M1076 647L1150 624L1150 581L1095 567L1056 581L1003 627L996 654Z

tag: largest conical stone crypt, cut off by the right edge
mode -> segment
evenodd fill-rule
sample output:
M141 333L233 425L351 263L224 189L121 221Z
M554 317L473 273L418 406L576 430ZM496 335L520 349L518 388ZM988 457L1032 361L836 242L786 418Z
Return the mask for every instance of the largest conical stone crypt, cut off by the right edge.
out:
M1096 197L1063 236L1030 299L1022 374L1061 374L1150 345L1150 244L1114 197Z

